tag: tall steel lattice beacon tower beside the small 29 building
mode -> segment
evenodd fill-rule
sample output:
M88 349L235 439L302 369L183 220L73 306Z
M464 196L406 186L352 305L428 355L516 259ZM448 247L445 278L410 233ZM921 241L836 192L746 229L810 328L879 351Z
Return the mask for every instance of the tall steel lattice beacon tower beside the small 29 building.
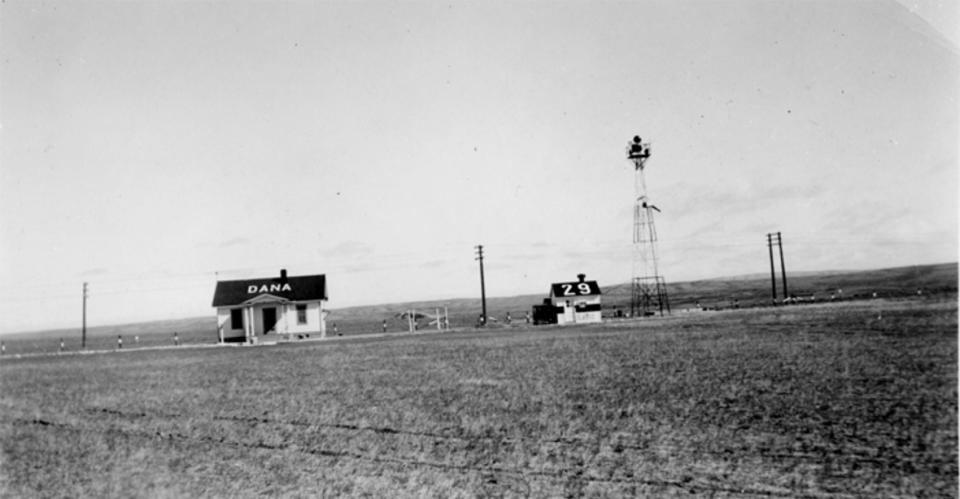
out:
M650 144L634 137L627 145L627 159L634 165L633 205L633 283L630 296L630 315L654 315L664 309L670 312L667 282L660 275L657 261L657 228L653 212L660 209L647 197L644 167L650 158Z

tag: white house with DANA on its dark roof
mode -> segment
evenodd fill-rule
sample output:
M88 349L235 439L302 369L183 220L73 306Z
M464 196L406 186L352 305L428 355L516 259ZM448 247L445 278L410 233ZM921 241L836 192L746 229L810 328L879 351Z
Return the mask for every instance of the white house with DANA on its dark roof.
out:
M325 275L217 281L213 307L221 343L327 336Z

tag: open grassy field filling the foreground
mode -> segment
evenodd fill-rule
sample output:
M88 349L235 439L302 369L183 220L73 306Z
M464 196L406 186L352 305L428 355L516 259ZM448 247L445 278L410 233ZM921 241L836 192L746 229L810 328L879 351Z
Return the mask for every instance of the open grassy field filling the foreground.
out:
M957 495L957 302L0 361L3 497Z

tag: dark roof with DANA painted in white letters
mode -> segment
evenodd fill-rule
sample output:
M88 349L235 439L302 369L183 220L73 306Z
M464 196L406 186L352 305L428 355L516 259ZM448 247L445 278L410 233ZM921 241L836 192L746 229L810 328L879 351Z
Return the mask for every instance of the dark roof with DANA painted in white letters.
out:
M276 296L289 301L326 300L327 276L321 274L289 276L286 279L273 277L217 281L217 290L213 292L213 306L240 305L263 295Z

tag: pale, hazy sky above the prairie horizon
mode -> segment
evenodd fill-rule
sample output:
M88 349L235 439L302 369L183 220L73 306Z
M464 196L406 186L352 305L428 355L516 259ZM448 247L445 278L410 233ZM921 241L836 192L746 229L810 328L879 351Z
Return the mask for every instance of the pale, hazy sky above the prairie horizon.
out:
M957 260L937 0L0 5L0 333L630 280L634 135L667 282Z

